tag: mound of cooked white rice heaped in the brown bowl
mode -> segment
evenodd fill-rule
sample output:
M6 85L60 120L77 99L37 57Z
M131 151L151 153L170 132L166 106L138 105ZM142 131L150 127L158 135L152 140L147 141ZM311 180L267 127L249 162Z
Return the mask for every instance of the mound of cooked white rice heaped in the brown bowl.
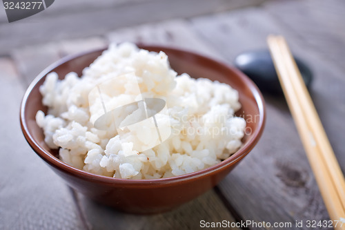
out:
M128 75L128 84L116 86L121 94L109 97L109 102L138 97L130 85L134 76L141 97L164 99L168 108L170 137L142 152L121 140L116 128L95 128L90 112L90 91L126 73L134 74ZM40 92L48 114L38 111L36 121L46 144L59 148L63 162L114 178L168 178L205 169L238 150L246 127L242 117L234 117L241 107L236 90L186 73L177 76L164 52L148 52L134 44L110 45L81 77L68 73L59 80L57 73L50 73ZM137 133L139 142L148 142L147 128Z

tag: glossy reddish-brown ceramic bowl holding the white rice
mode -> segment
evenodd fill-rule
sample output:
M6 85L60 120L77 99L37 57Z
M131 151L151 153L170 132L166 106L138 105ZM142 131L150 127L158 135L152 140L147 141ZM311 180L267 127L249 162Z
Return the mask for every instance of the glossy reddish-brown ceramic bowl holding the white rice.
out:
M242 108L239 115L247 118L257 117L248 122L251 133L243 139L244 145L228 159L207 169L188 173L173 178L156 180L126 180L108 178L75 169L62 162L57 157L57 151L52 151L44 142L43 132L35 122L37 111L47 111L42 105L39 86L43 84L46 75L56 72L60 78L71 71L79 76L81 70L89 66L103 50L86 52L74 57L66 57L43 70L32 82L21 104L21 129L26 140L51 169L66 183L80 193L103 204L131 213L157 213L168 211L189 200L193 200L208 189L213 188L223 179L251 149L262 135L265 123L265 106L262 94L253 82L239 70L222 64L208 57L192 52L162 46L141 46L147 50L159 52L163 50L169 57L171 67L177 73L188 73L192 77L206 77L229 84L239 92L239 102ZM259 116L259 117L258 117Z

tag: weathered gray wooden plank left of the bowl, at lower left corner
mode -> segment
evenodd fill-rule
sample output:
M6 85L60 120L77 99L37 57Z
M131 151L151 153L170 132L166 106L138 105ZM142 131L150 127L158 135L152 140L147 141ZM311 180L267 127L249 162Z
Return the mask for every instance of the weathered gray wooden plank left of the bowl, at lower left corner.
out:
M19 127L23 88L0 59L0 229L83 229L67 186L31 150Z

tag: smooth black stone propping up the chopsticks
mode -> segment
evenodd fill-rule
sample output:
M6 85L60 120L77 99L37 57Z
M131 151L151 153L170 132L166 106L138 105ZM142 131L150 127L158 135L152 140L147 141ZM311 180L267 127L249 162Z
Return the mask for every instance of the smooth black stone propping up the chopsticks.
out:
M294 57L307 88L311 86L313 73L311 69L297 57ZM235 58L234 64L239 70L257 84L262 92L282 94L273 60L268 50L243 52Z

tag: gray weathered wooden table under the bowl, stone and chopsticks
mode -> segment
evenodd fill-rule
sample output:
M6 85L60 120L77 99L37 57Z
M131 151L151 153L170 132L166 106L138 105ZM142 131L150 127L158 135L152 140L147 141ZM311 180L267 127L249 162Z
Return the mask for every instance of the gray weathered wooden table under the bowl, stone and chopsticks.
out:
M201 220L291 222L293 227L280 229L327 229L306 227L307 220L329 217L283 97L264 95L264 135L225 180L188 204L158 215L121 213L84 198L48 169L24 140L19 127L23 92L37 73L63 56L112 41L142 41L186 48L232 64L240 52L266 48L266 36L277 33L313 70L311 94L345 171L345 2L233 1L236 7L232 1L200 2L196 10L188 5L173 14L171 7L172 12L160 18L148 16L139 26L128 19L117 21L111 32L109 26L89 33L80 28L79 35L67 31L65 37L50 34L34 41L30 32L18 37L19 29L30 23L13 24L17 30L0 23L0 229L199 229ZM141 4L137 8L154 5L137 4ZM127 5L119 6L123 10ZM56 20L63 23L59 17ZM96 28L97 21L90 26ZM295 227L296 221L304 221L304 226Z

